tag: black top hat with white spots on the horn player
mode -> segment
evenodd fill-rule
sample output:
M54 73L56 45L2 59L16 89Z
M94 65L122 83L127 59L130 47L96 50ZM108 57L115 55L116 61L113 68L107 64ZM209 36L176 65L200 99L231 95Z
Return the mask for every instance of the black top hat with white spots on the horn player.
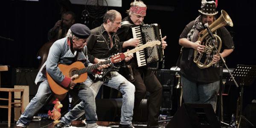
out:
M198 10L198 12L200 12L201 14L204 14L204 15L216 15L218 13L218 11L215 11L216 9L216 5L215 5L215 2L214 1L205 1L205 0L202 1L202 6L201 6L201 9L202 10Z

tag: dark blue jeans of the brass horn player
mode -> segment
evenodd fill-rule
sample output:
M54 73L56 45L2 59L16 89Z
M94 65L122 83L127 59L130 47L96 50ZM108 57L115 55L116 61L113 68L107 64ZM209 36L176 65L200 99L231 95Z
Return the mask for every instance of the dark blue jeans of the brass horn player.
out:
M181 85L185 103L207 103L211 104L212 108L215 110L219 81L206 84L189 81L181 76Z

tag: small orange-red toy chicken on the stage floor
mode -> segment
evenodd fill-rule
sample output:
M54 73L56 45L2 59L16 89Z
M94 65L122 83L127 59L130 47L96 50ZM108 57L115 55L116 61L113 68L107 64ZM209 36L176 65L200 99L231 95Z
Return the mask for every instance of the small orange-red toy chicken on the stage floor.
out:
M53 101L52 104L54 104L54 108L52 111L50 111L50 110L48 111L48 116L49 116L49 118L54 120L54 123L58 123L58 122L60 122L59 119L61 118L62 104L60 101L58 101L58 99Z

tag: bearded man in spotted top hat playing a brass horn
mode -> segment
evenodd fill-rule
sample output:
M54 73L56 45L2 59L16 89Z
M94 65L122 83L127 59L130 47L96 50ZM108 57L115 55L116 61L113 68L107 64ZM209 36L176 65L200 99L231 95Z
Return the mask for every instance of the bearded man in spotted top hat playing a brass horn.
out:
M211 25L218 13L214 1L202 0L200 15L186 25L180 35L179 44L183 46L182 53L177 62L181 72L181 84L185 103L209 103L215 109L219 89L219 75L222 72L220 57L214 49L212 54L212 66L201 69L194 62L194 50L202 52L205 48L198 41L198 37L205 29L204 24ZM230 33L222 26L213 34L218 35L222 41L221 56L226 57L233 52L234 44ZM221 71L221 72L220 72Z

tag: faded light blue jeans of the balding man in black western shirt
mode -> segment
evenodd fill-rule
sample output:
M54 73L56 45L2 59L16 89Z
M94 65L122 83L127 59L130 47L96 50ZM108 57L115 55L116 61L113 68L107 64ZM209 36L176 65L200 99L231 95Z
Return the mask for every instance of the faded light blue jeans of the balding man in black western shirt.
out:
M93 83L92 79L88 77L88 79L84 83L87 87L90 87L93 90L94 97L96 97L97 93L99 92L99 88L101 87L102 84L119 90L122 93L122 99L123 99L120 124L122 125L131 124L133 109L134 109L134 92L135 92L135 87L131 82L129 82L119 73L111 72L111 79L106 82L97 81L96 83ZM85 116L87 116L87 114L94 114L96 116L96 111L93 111L91 113L85 112Z

